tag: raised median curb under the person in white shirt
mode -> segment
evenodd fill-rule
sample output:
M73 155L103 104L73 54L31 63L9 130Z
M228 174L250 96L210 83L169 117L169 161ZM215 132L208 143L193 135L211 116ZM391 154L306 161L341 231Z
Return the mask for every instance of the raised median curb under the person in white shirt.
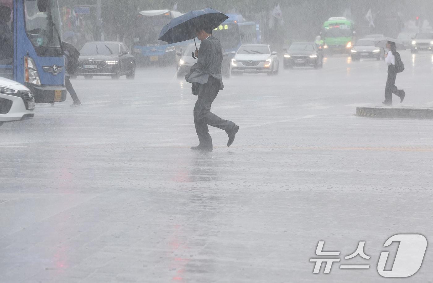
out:
M356 115L370 118L433 119L433 108L357 107Z

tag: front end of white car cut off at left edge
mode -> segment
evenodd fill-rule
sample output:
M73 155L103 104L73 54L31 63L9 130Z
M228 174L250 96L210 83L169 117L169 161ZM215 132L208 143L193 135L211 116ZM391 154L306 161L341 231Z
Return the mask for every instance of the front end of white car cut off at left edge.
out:
M35 97L20 83L0 77L0 125L34 116Z

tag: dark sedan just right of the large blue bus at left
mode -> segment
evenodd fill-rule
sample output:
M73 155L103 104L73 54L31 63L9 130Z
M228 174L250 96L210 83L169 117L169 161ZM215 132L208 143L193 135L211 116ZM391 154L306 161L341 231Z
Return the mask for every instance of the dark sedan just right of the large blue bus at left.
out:
M111 76L119 79L126 75L128 79L135 78L136 61L123 42L87 42L80 53L76 76L84 76L86 79L93 76Z

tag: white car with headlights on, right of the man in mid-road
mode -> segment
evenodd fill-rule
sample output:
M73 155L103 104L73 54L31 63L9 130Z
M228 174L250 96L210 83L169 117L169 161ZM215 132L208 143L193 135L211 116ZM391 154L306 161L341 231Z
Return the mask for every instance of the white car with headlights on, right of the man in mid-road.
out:
M230 64L233 75L237 73L278 75L279 67L277 52L272 52L271 47L266 44L241 45Z

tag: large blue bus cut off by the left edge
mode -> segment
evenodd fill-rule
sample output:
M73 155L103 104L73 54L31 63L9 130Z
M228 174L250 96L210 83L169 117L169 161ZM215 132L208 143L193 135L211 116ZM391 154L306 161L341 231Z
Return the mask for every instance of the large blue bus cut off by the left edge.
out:
M36 102L66 99L57 0L0 0L0 76L27 86Z

